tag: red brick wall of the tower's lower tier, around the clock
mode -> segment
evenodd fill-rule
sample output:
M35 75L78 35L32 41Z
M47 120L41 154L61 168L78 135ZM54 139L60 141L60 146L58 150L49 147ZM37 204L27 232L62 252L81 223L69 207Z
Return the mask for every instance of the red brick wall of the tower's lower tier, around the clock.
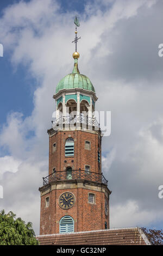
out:
M59 206L59 197L64 192L71 192L76 203L71 209L64 210ZM96 204L88 203L88 193L95 194ZM49 207L46 208L46 197L49 196ZM40 235L59 233L59 221L65 215L74 220L74 231L89 231L109 227L109 216L105 215L105 194L103 192L72 188L67 190L52 190L41 197Z

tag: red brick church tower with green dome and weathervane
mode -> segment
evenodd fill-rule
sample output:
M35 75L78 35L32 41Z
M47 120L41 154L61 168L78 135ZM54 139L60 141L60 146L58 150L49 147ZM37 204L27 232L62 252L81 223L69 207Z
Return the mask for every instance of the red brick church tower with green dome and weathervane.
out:
M49 171L43 178L40 235L109 229L108 180L102 174L102 132L94 116L97 96L80 74L77 52L71 74L53 96L56 117L49 135Z

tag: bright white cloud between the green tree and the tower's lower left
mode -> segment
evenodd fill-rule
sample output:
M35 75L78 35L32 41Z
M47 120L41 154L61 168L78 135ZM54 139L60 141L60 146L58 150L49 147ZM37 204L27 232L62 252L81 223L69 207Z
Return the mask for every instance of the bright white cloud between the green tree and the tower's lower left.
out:
M17 217L32 222L36 234L39 234L40 192L42 176L47 175L47 160L37 161L37 157L24 160L16 173L6 172L0 184L3 186L1 209L13 211Z

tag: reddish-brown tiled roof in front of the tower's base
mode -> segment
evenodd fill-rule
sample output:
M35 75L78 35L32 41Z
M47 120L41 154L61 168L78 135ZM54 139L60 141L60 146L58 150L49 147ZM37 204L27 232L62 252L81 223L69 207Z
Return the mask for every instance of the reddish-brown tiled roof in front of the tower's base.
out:
M150 245L141 228L121 228L41 235L40 245Z

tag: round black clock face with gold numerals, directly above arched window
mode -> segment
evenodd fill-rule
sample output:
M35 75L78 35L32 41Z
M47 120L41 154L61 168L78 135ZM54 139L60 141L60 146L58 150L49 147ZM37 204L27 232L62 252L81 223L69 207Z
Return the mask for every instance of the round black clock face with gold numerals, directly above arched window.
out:
M65 192L63 194L61 194L60 198L59 198L59 206L62 209L70 209L72 208L72 206L74 205L74 195L70 192Z

